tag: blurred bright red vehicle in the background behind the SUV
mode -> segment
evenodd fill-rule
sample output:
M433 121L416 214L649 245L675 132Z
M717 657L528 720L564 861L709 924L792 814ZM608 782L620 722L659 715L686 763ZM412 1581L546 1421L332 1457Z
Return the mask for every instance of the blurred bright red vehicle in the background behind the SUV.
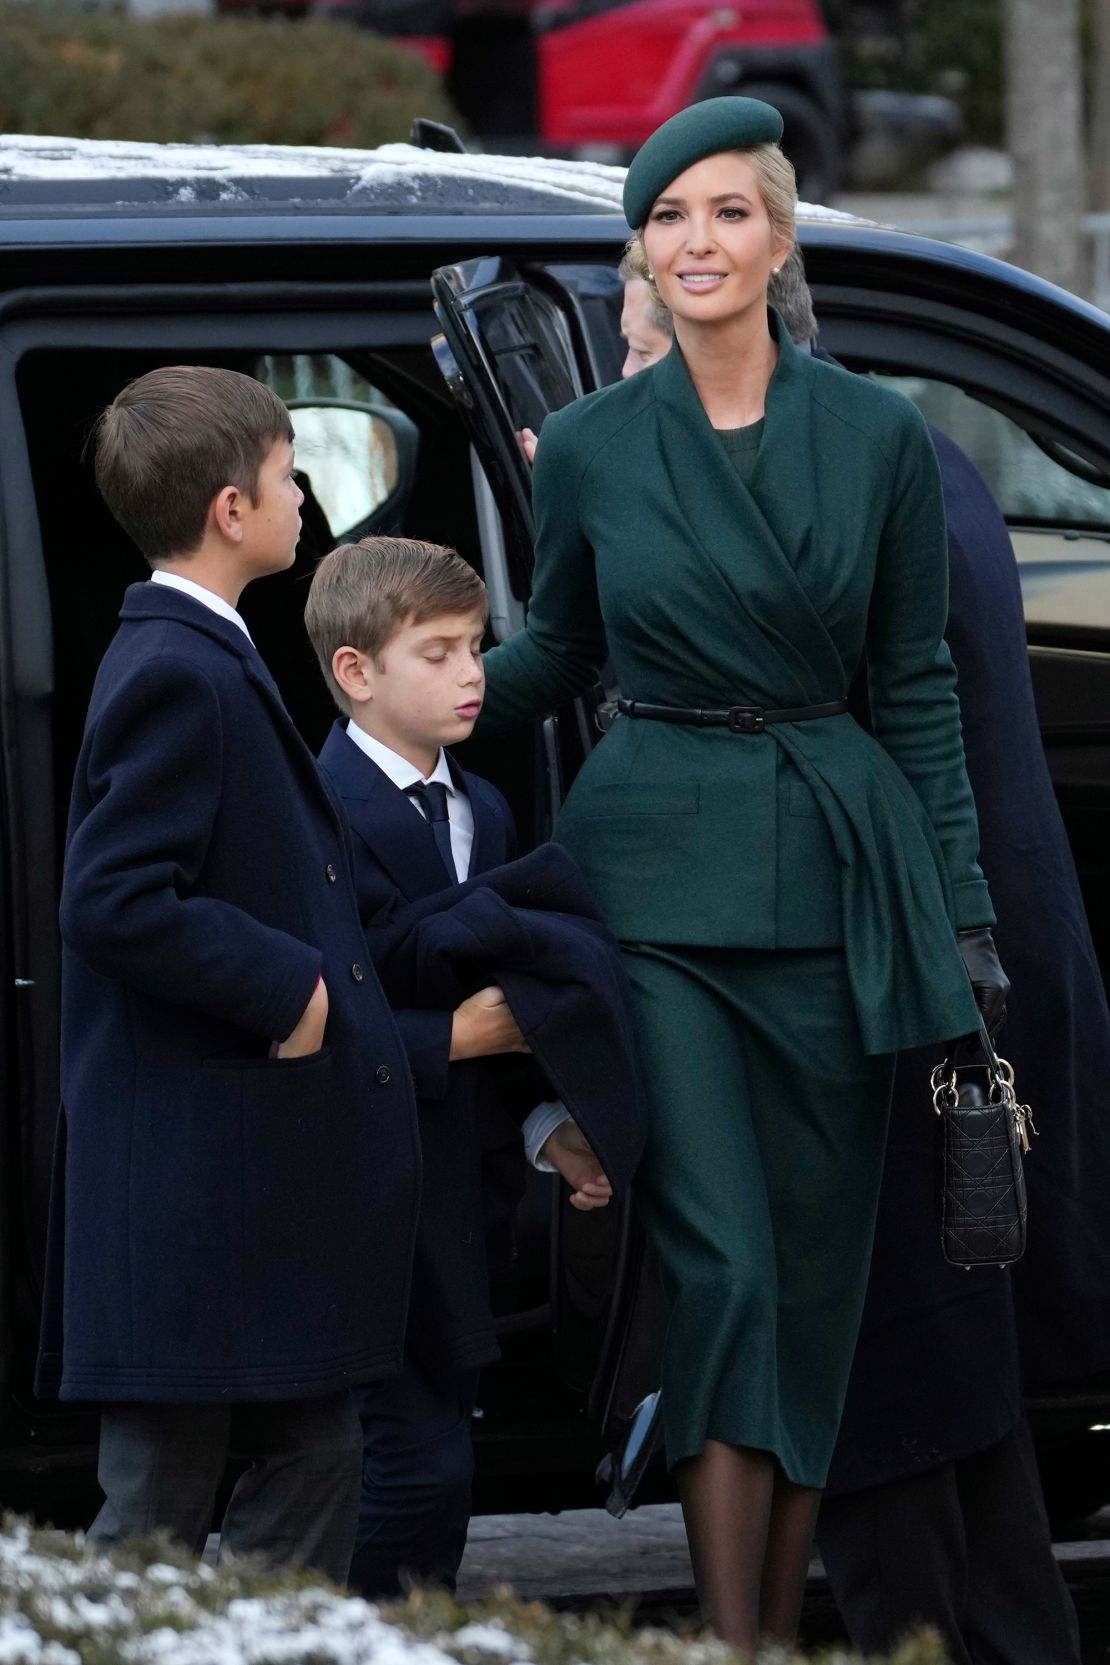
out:
M742 92L782 112L802 196L840 181L850 113L819 0L221 0L246 3L411 45L501 152L626 162L676 110Z

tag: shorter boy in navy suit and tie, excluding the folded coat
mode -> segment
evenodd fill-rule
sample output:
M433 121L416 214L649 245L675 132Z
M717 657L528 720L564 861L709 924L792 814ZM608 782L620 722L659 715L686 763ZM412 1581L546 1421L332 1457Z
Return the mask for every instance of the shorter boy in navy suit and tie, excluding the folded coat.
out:
M511 859L506 801L443 749L466 739L481 709L486 586L478 574L434 544L366 538L320 563L305 623L349 714L320 761L351 824L364 924L398 901ZM364 1472L349 1582L369 1597L396 1595L406 1578L454 1588L478 1375L498 1355L481 1227L491 1167L501 1172L494 1207L504 1214L516 1200L513 1147L521 1146L489 1087L506 1064L494 1054L528 1051L498 987L454 1012L401 1011L396 1021L421 1112L424 1192L404 1369L359 1392ZM609 1182L561 1106L528 1116L524 1147L536 1166L567 1179L576 1207L607 1202Z

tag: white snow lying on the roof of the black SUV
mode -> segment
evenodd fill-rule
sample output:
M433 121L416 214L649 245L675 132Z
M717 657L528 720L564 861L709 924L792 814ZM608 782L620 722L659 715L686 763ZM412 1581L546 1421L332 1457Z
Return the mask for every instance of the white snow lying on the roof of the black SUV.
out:
M148 145L0 135L0 208L266 206L621 213L624 168L416 145ZM852 220L799 203L805 220Z

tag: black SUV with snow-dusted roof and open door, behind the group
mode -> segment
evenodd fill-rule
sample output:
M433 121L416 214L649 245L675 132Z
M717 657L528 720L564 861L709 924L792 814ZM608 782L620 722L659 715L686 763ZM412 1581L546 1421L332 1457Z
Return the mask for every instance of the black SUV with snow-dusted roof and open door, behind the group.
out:
M486 576L493 636L519 629L533 521L514 433L619 375L619 181L591 165L398 147L0 140L3 1503L82 1520L95 1484L95 1407L32 1392L70 774L120 596L146 571L93 490L90 423L161 363L245 370L290 401L310 488L303 543L296 568L248 591L243 611L316 748L331 709L301 611L333 541L404 529L449 543ZM1105 964L1110 318L984 256L820 210L802 215L800 238L824 343L917 400L1010 521L1043 741ZM549 834L594 739L581 701L471 743L466 761L504 789L529 844ZM504 1359L481 1394L479 1507L597 1500L596 1465L637 1392L637 1259L627 1215L579 1215L531 1177L498 1290ZM1033 1410L1065 1439L1110 1422L1110 1387ZM1078 1450L1072 1479L1093 1507L1110 1479Z

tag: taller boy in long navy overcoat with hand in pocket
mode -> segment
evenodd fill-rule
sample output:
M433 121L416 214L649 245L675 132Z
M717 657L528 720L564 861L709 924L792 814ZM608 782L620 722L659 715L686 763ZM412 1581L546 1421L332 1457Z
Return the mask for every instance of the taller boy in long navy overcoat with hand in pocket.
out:
M221 1547L343 1580L351 1387L401 1360L419 1147L341 814L235 609L293 563L291 470L288 411L233 371L156 370L100 420L155 571L73 783L40 1385L105 1402L93 1538L200 1550L233 1447Z

